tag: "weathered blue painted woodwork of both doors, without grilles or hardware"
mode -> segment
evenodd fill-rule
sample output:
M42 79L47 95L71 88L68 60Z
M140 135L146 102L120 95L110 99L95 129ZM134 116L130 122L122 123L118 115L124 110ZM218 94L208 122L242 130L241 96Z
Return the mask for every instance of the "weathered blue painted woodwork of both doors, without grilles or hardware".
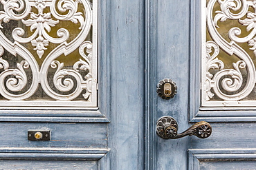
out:
M99 0L99 110L1 110L0 169L253 169L256 124L241 121L255 121L255 111L199 111L199 6ZM171 100L156 94L163 78L178 86ZM212 136L159 138L165 115L179 132L207 120ZM40 128L52 140L28 141L27 130Z

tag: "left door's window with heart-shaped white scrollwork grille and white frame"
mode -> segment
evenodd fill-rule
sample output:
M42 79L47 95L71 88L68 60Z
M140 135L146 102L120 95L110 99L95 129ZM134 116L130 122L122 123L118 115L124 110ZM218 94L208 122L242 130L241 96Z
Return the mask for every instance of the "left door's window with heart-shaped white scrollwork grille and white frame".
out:
M97 6L91 0L1 0L0 105L97 106ZM11 22L17 26L7 36ZM19 56L15 65L7 53ZM67 65L61 56L76 61ZM38 89L47 100L31 99Z

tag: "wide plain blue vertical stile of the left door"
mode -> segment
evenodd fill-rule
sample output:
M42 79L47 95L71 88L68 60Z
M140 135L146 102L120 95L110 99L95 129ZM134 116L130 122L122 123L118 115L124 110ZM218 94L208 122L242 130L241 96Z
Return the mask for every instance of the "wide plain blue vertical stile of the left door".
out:
M145 2L99 4L100 111L110 121L111 149L99 169L144 169Z

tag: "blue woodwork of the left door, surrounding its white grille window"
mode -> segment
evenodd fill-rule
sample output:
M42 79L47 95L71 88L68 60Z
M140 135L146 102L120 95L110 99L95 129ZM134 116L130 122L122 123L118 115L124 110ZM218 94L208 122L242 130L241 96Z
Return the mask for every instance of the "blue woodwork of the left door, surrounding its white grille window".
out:
M98 72L93 79L94 98L91 103L48 97L1 102L0 169L144 168L145 3L89 2L89 6L98 2L92 17L94 42L98 36L98 44L93 44L94 54L98 53L93 61L98 64L93 70ZM80 18L75 19L79 22ZM97 25L98 30L94 30ZM42 91L40 87L38 90ZM29 141L28 129L50 129L52 138Z

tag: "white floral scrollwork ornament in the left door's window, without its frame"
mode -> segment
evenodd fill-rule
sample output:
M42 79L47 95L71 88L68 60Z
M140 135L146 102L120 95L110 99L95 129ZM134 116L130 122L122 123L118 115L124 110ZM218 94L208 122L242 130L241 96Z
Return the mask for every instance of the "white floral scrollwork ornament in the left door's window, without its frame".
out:
M92 4L88 0L8 0L1 1L3 10L0 11L1 29L4 29L2 23L8 23L11 20L21 21L27 28L30 28L32 35L26 36L23 28L12 30L12 39L10 41L2 31L0 31L0 54L3 55L7 50L12 55L21 56L24 60L17 63L17 68L10 68L8 61L0 58L0 94L8 100L25 100L35 94L37 87L41 84L44 92L55 100L73 100L82 92L84 100L91 100L91 88L93 81L92 74L92 49L91 41L86 41L92 27ZM82 6L83 12L78 10ZM32 11L36 9L37 12ZM44 12L49 9L50 12ZM50 32L60 21L66 21L67 24L80 24L80 32L77 36L70 39L70 32L65 28L57 30L57 37L50 36ZM24 43L33 45L37 56L33 56ZM57 44L39 65L37 60L45 54L47 47L51 44ZM81 59L73 65L73 69L65 68L64 63L57 61L57 57L64 54L71 54L79 49ZM30 68L33 79L26 92L22 91L28 85L26 69ZM53 84L56 90L52 89L48 82L49 68L55 69ZM80 72L86 74L80 74ZM72 77L72 78L71 78ZM71 90L72 89L72 90ZM13 92L21 92L15 94ZM66 94L58 92L69 92Z

